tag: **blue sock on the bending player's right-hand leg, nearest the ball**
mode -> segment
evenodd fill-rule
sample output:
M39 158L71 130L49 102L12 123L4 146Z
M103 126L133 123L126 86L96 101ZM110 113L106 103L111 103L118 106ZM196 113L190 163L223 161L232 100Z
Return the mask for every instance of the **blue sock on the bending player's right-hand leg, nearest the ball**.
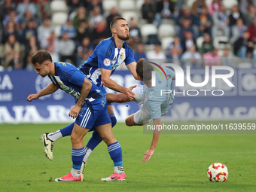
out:
M108 145L108 153L114 162L114 166L123 166L122 148L119 142Z

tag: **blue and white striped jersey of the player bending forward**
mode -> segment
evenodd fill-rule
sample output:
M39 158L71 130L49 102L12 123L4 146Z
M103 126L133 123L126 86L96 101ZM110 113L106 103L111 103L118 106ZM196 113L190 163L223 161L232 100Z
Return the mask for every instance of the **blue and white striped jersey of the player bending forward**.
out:
M48 75L48 77L56 87L74 96L77 102L81 95L81 86L84 83L84 78L86 78L85 75L75 66L66 62L54 62L54 67L54 76ZM90 93L86 100L92 102L102 97L105 96L97 89L96 85L92 83Z

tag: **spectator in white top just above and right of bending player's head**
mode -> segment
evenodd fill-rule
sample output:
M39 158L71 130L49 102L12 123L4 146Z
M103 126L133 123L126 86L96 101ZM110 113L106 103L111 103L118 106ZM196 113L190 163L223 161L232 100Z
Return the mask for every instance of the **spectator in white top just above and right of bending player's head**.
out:
M75 41L69 38L69 33L64 32L59 40L59 59L75 65Z

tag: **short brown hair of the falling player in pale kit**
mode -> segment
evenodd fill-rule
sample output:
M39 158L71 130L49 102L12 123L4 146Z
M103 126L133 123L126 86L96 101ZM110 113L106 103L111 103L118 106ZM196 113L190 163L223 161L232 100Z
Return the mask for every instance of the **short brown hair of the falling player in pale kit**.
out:
M136 66L136 73L141 77L143 80L148 81L151 80L151 72L154 69L149 65L149 63L144 59L139 59Z

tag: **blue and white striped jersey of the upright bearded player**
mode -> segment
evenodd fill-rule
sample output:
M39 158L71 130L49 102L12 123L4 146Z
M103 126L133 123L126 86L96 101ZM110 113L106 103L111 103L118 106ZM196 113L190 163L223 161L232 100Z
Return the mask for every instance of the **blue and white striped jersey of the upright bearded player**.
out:
M123 47L118 49L114 38L111 37L102 40L93 51L93 54L88 57L79 69L97 87L101 87L102 78L100 69L111 70L112 74L122 62L125 62L126 65L135 62L133 50L125 41Z

